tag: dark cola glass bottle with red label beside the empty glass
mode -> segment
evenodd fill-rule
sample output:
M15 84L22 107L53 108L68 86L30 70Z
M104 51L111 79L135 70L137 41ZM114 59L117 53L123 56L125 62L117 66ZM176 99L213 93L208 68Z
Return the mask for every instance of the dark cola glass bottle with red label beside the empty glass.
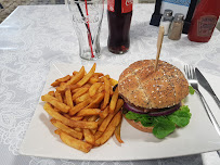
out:
M112 53L122 54L129 50L132 4L133 0L107 0L107 48Z

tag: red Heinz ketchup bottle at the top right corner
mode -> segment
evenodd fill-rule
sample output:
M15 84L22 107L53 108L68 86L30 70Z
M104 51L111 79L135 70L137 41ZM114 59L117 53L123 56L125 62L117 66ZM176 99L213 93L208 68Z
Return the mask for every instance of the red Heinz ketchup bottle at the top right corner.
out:
M220 0L200 0L195 9L187 38L195 42L208 42L220 14Z

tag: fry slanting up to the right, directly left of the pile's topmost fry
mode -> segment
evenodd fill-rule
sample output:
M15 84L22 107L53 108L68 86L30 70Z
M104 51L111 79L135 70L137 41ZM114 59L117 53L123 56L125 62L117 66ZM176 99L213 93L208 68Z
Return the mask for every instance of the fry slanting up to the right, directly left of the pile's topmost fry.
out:
M63 87L57 87L57 91L64 91L67 86L77 84L85 76L85 66L80 68L80 71L72 77Z

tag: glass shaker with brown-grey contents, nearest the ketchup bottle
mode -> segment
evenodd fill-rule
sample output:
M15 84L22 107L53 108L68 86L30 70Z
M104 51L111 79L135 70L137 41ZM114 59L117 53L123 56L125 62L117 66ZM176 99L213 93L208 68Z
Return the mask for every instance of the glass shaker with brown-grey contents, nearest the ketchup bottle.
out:
M182 28L183 28L183 18L184 15L181 13L174 14L174 18L171 23L168 38L171 40L179 40L181 38Z

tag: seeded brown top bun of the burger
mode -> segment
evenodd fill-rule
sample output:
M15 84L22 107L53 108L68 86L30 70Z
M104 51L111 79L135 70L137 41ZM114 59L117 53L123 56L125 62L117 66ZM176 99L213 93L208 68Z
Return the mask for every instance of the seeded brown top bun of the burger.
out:
M176 66L155 60L132 63L118 80L118 90L129 103L144 109L170 107L189 94L189 84Z

